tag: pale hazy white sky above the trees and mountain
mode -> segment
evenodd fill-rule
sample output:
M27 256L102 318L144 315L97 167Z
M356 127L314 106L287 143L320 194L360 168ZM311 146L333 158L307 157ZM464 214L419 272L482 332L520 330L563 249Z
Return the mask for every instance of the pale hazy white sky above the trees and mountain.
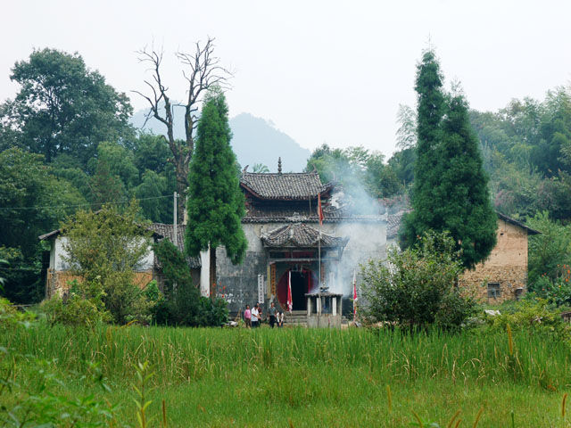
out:
M165 51L170 96L185 96L174 52L216 37L236 70L231 115L250 112L309 149L327 142L394 150L399 103L415 103L415 66L428 37L446 82L478 110L542 98L571 81L570 1L19 1L3 4L0 100L14 62L33 48L79 52L136 110L145 67L135 51Z

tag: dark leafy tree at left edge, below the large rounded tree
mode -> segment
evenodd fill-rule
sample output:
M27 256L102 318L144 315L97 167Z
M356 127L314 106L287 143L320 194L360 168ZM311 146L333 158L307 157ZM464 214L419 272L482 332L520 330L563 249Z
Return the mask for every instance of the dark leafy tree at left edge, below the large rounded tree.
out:
M44 249L37 236L85 203L67 180L52 174L42 155L15 147L0 152L0 259L10 261L0 266L6 297L18 303L43 297Z

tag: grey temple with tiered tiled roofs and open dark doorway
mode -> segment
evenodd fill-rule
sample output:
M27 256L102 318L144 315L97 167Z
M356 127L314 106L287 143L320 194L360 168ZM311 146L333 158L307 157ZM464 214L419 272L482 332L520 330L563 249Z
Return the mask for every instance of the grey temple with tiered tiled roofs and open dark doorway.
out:
M256 302L267 306L274 301L285 309L291 281L293 310L302 316L308 309L307 293L328 290L348 296L360 263L385 258L385 217L352 213L335 184L322 184L315 171L244 169L240 186L246 201L244 262L232 265L224 248L218 248L216 282L209 284L210 256L203 253L201 258L203 295L223 296L231 313Z

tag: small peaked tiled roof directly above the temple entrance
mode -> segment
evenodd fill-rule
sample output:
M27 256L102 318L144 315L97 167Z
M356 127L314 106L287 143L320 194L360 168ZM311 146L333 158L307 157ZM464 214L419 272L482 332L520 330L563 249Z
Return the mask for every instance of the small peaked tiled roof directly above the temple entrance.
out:
M324 233L319 235L319 230L303 223L280 226L268 234L261 235L261 242L264 246L280 248L314 248L319 246L319 242L323 248L344 247L348 241L349 238Z

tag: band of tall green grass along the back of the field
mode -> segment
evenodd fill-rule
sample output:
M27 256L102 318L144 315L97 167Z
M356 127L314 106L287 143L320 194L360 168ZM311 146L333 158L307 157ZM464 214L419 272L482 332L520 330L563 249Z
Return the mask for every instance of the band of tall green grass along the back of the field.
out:
M0 346L54 360L56 369L82 374L97 361L118 384L148 361L158 385L249 376L280 367L364 369L386 383L442 379L456 383L523 383L557 391L571 383L569 349L538 334L403 333L364 329L221 330L102 326L95 331L36 325L0 332Z

